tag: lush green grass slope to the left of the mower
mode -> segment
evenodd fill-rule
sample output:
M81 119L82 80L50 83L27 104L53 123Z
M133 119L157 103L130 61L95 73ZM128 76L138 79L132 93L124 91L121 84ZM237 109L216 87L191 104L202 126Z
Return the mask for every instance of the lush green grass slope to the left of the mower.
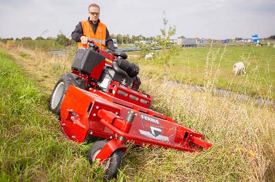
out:
M3 50L0 60L0 181L102 180L89 147L63 137L40 86Z

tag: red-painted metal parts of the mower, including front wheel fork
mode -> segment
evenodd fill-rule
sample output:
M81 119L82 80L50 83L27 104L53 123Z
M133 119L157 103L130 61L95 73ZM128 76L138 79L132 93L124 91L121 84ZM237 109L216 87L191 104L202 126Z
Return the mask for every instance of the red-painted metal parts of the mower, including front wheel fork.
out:
M115 58L103 50L99 52L106 57L104 64L111 64ZM117 81L104 93L96 89L91 75L75 70L72 73L86 80L86 90L69 86L61 105L60 126L75 142L84 142L89 136L109 139L96 156L100 164L119 148L125 152L125 142L190 152L212 146L202 140L203 134L150 110L152 96Z

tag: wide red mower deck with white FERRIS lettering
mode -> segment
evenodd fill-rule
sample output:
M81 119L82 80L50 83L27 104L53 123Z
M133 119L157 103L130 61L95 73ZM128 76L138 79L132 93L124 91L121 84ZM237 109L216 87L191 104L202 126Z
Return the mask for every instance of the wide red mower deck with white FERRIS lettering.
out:
M130 111L136 116L128 124L125 119ZM179 125L168 116L96 89L88 92L71 85L61 106L60 125L69 139L79 143L89 136L110 140L120 136L137 145L157 145L190 152L198 151L200 146L212 146L202 140L203 134Z

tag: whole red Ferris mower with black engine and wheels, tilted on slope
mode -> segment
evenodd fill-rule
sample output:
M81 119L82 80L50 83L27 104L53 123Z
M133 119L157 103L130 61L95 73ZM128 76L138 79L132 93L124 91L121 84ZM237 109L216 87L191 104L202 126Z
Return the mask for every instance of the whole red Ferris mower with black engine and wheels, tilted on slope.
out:
M109 54L93 40L88 45L54 86L49 109L60 116L68 139L95 142L87 157L105 169L105 178L116 177L123 166L127 142L190 152L212 146L203 134L151 108L152 96L139 90L139 67L124 52Z

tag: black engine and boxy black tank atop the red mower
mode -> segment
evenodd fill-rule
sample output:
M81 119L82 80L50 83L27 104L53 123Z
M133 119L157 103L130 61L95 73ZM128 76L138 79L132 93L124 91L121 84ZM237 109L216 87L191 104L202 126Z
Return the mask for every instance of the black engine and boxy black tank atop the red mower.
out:
M72 63L72 70L84 73L97 80L99 89L107 92L109 85L115 80L135 89L139 89L141 81L137 74L140 68L128 62L127 54L121 51L114 53L112 67L105 65L105 57L90 49L78 49ZM100 71L101 70L101 71Z

